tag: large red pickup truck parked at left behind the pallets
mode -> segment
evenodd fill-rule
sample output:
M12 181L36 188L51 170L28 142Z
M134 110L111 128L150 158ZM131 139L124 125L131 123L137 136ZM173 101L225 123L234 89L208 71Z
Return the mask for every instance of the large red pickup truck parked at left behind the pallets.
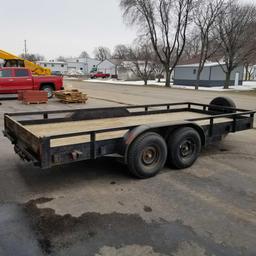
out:
M63 78L33 76L26 68L0 68L0 94L15 94L19 90L44 90L51 98L54 91L63 90Z

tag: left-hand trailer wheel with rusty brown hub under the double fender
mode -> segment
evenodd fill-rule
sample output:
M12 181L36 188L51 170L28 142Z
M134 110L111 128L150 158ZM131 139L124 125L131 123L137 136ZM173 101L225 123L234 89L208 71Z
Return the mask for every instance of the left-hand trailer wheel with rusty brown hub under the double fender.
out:
M140 179L155 176L164 167L167 146L157 133L148 132L138 137L128 151L129 171Z

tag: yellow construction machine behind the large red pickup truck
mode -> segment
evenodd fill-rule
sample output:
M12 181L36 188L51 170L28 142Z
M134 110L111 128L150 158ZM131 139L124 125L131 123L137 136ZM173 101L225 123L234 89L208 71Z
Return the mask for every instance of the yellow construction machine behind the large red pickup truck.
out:
M52 73L49 68L43 68L34 62L22 59L3 50L0 50L0 59L4 60L4 67L25 67L30 69L34 75L51 75Z

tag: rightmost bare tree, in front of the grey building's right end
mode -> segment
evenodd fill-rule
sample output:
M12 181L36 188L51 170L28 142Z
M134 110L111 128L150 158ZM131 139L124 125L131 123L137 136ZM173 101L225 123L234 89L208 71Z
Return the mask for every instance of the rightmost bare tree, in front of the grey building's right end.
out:
M226 89L230 86L232 71L256 50L255 23L255 5L239 5L236 1L230 1L217 19L216 33L225 63L221 68L226 74Z

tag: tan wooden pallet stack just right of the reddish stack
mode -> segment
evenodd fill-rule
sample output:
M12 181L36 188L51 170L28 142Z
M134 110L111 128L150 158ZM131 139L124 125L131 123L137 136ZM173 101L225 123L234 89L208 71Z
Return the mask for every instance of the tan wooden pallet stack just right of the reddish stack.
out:
M88 96L78 90L66 90L55 92L56 98L63 103L86 103Z

